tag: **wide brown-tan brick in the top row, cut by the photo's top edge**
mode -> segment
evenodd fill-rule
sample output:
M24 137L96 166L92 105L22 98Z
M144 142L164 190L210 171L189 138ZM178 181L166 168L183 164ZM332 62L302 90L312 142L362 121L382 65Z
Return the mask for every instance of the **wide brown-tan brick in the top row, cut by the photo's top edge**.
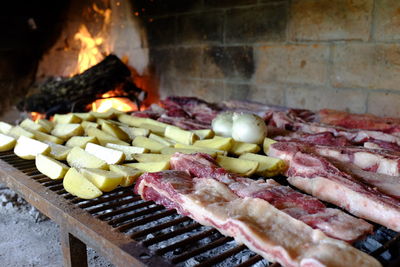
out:
M368 40L372 8L373 0L295 0L290 10L290 38Z

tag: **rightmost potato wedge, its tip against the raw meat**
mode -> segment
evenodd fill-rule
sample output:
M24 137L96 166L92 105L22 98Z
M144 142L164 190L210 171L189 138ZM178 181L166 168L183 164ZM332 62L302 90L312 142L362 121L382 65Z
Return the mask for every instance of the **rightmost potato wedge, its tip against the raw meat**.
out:
M253 153L246 153L239 157L239 159L252 160L259 163L256 174L265 177L272 177L281 174L286 169L286 164L279 158L273 158Z

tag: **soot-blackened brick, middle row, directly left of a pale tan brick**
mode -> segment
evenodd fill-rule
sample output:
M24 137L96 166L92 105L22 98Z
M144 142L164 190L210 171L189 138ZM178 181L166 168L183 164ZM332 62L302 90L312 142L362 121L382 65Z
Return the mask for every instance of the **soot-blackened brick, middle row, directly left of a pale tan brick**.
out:
M206 48L202 68L203 77L248 80L254 72L253 48L250 46Z

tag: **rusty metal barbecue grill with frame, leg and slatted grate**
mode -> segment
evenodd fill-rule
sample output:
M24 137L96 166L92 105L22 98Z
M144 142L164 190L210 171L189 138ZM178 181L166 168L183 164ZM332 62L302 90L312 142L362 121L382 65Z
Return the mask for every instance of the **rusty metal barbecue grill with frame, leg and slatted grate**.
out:
M12 152L0 153L0 182L60 225L65 266L86 266L86 245L117 266L280 266L211 227L143 201L131 187L80 199ZM398 266L400 233L374 229L354 245L385 266Z

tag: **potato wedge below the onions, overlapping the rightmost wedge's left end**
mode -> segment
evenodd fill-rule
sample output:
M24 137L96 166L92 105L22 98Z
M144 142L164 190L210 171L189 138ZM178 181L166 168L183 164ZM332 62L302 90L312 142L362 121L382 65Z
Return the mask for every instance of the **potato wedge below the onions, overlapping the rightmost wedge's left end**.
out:
M250 176L255 173L259 165L256 161L225 157L221 155L217 156L216 161L222 168L243 176Z

